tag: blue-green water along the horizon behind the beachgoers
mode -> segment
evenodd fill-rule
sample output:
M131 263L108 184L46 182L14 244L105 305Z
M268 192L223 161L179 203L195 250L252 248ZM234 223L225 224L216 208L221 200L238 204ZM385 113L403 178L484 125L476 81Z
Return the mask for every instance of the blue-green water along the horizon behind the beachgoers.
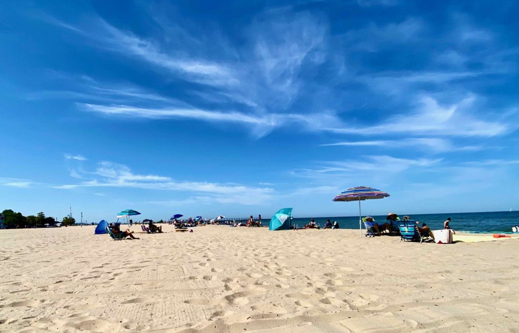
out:
M399 213L399 212L397 212ZM480 212L480 213L442 213L442 214L400 214L400 219L409 215L412 220L425 222L435 229L443 229L443 222L450 217L450 228L469 233L512 233L512 226L519 225L519 211L512 212ZM364 217L364 216L363 216ZM376 222L384 223L386 216L373 215ZM321 227L326 220L337 221L341 228L358 229L359 216L335 216L313 218ZM293 219L299 228L310 222L310 218ZM421 225L421 224L420 224ZM364 225L362 225L364 228Z

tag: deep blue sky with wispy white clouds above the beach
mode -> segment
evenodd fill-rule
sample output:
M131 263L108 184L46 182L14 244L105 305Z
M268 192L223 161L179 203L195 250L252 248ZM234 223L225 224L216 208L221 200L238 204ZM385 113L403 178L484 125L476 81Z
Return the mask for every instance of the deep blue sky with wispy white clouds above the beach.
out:
M516 2L2 2L0 208L519 209ZM503 189L508 189L503 191Z

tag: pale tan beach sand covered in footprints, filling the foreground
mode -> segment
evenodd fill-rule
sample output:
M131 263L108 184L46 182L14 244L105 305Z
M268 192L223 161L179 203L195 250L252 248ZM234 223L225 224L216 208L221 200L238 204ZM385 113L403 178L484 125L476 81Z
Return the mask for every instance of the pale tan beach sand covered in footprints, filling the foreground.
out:
M164 228L0 230L0 332L519 331L517 239Z

